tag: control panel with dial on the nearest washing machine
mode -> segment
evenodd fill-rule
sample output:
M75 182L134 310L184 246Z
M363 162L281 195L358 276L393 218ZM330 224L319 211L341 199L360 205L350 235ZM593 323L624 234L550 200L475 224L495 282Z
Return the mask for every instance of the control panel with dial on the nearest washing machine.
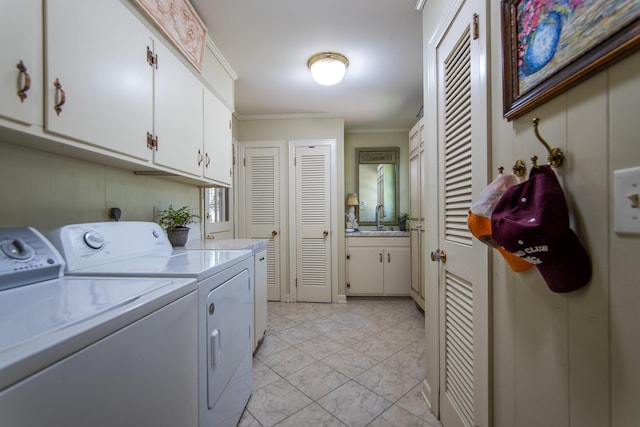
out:
M0 290L62 276L58 251L31 227L0 228Z

